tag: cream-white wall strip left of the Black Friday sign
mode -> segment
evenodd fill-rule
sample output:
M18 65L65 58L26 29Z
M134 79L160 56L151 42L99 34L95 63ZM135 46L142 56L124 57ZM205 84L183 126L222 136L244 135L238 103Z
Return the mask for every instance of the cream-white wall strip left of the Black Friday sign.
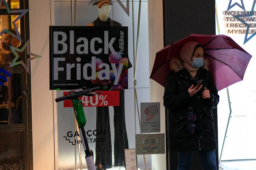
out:
M29 0L33 169L54 169L53 94L49 90L50 0Z

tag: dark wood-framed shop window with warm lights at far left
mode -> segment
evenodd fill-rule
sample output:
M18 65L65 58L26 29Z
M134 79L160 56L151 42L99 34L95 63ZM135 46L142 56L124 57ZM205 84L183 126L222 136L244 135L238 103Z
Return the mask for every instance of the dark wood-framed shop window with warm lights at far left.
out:
M26 54L26 50L19 52L10 47L21 49L29 39L28 13L13 23L21 12L12 11L28 9L28 2L19 0L6 0L6 2L0 4L0 170L31 169L32 167L29 167L29 159L32 158L32 144L29 144L32 143L32 140L29 142L29 139L32 139L32 131L29 130L31 127L30 74L21 64L12 66L17 55L16 62L24 63L30 56Z

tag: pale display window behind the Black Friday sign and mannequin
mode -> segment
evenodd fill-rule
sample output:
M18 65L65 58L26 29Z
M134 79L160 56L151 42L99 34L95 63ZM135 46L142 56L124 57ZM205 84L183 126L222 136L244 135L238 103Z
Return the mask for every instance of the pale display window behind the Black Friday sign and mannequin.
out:
M112 1L108 17L120 23L123 27L128 27L128 56L131 68L128 69L128 88L120 90L123 93L124 104L121 108L122 113L119 113L118 106L104 107L83 107L86 117L85 131L89 148L94 152L95 164L103 164L106 169L125 168L124 150L128 148L135 148L135 134L140 133L140 126L135 106L134 97L134 53L136 50L137 39L137 23L139 1ZM148 2L141 2L140 13L140 32L139 32L139 46L138 46L138 60L137 64L137 93L138 102L150 102L149 97L149 61L148 61ZM54 26L71 26L71 4L66 1L54 1ZM73 2L73 8L75 3ZM100 9L100 8L99 8ZM134 13L134 14L132 14ZM74 13L73 13L74 17ZM86 26L95 21L99 17L99 11L96 5L89 4L89 1L77 1L76 9L76 26ZM133 18L134 17L134 18ZM73 19L73 25L74 25ZM133 29L134 23L134 29ZM94 23L95 24L95 23ZM98 26L98 25L94 25ZM133 41L134 40L134 41ZM134 46L134 48L133 48ZM81 56L82 55L78 55ZM99 58L96 55L96 58ZM104 60L103 60L104 61ZM82 68L82 67L81 67ZM100 84L101 85L101 84ZM61 97L66 94L68 90L56 91L57 96ZM122 95L120 95L122 96ZM89 100L90 98L88 98ZM82 102L85 104L86 99L83 97ZM99 98L100 100L100 98ZM104 100L104 99L103 99ZM106 99L107 100L107 99ZM113 99L115 100L115 99ZM118 100L118 99L117 99ZM121 99L120 99L121 101ZM87 101L88 102L88 101ZM93 101L95 102L95 101ZM110 101L107 101L110 102ZM102 115L99 115L99 110L104 109ZM120 114L124 114L121 118ZM107 115L107 116L105 116ZM98 120L103 119L104 124L109 124L109 129L96 127ZM124 125L122 119L125 120ZM57 103L57 131L58 131L58 167L57 169L80 169L79 150L78 150L78 130L74 129L74 111L72 106L66 107L64 102ZM98 126L98 125L97 125ZM56 125L55 125L56 127ZM105 127L105 125L104 125ZM126 133L126 134L125 134ZM125 134L124 136L122 134ZM125 136L127 135L127 144ZM105 136L105 137L104 137ZM110 139L106 139L109 136ZM56 137L56 136L55 136ZM121 138L120 138L121 137ZM119 139L120 138L120 139ZM81 140L81 139L80 139ZM107 142L110 141L106 145ZM120 143L121 142L121 143ZM124 143L123 143L124 142ZM124 146L123 146L124 145ZM100 146L100 148L99 148ZM82 168L85 168L85 153L81 145L81 159ZM104 155L99 155L99 150L104 151ZM147 169L151 168L151 155L145 155ZM108 162L108 163L106 163ZM139 169L144 168L143 155L137 155L137 162Z

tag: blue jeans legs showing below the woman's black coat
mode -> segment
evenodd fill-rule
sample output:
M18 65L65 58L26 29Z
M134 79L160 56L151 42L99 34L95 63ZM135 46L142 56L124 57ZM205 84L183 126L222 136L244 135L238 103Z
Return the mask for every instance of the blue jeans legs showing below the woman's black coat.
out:
M217 170L215 149L199 151L204 170ZM178 170L190 170L193 151L178 152Z

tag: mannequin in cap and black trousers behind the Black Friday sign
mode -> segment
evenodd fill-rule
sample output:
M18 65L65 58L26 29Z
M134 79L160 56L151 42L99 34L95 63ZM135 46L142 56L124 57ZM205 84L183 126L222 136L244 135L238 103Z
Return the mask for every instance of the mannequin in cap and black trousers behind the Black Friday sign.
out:
M121 27L122 24L116 22L108 17L112 1L101 0L95 2L99 10L99 17L88 24L87 26L102 26L102 27ZM128 139L125 126L125 111L124 111L124 90L119 90L120 106L113 106L114 108L114 166L125 166L124 149L128 149ZM99 170L112 167L112 146L110 136L110 123L109 123L109 108L96 107L96 129L106 130L106 134L99 134L97 138L106 138L106 142L96 142L96 163L95 165ZM97 151L100 152L97 154Z

